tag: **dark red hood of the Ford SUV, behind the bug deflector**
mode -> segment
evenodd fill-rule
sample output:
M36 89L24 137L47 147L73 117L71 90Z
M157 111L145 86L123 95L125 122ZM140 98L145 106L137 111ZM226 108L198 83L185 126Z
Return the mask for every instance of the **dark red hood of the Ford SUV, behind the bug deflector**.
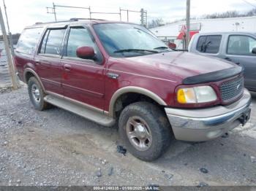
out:
M234 63L219 58L179 51L162 52L125 59L140 65L145 64L156 71L167 72L171 79L174 77L175 79L180 79L179 81L187 77L238 67Z

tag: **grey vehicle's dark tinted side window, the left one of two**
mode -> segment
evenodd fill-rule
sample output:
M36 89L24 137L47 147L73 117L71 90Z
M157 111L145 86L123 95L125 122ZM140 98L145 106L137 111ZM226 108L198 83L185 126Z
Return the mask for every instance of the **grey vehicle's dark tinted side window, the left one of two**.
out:
M197 50L199 52L216 54L219 52L221 35L200 36L197 42Z

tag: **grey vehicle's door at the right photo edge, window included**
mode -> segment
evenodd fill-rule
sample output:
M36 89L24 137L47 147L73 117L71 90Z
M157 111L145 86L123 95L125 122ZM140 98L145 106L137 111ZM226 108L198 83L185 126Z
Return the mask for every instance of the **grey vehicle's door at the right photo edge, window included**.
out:
M256 90L256 38L248 35L229 35L225 59L244 67L245 86Z

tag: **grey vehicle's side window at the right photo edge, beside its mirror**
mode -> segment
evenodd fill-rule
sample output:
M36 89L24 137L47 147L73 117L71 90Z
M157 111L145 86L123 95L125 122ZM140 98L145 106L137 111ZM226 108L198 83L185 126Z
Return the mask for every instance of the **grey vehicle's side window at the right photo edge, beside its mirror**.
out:
M255 55L252 48L256 47L256 39L244 35L230 35L227 42L227 54Z

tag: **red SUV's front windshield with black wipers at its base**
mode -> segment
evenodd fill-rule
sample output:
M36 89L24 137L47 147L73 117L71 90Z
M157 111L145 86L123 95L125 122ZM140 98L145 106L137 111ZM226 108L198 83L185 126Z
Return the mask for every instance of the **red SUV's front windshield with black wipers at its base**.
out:
M94 25L105 50L113 57L131 57L170 51L143 26L126 23L101 23Z

